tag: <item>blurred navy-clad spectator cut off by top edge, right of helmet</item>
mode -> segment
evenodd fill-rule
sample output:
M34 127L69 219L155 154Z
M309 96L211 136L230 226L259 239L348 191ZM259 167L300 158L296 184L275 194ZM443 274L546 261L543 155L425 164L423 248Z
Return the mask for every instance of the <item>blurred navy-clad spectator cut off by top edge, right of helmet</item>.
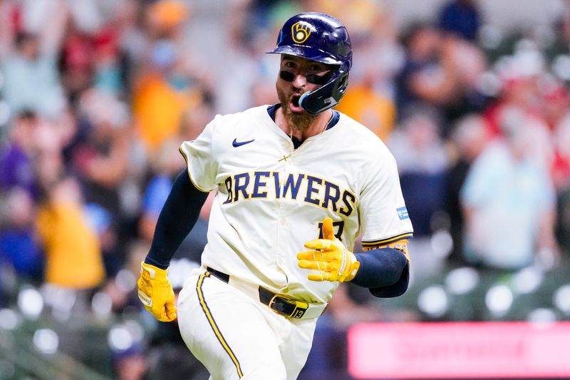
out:
M439 15L442 31L475 41L481 26L480 10L475 0L451 0L442 6Z

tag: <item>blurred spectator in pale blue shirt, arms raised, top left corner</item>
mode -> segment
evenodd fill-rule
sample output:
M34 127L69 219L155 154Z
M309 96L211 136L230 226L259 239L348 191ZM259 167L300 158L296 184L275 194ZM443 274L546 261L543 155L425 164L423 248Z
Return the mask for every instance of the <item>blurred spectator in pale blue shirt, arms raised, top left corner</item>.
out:
M30 109L50 118L58 117L66 105L57 71L57 55L68 20L66 1L48 4L43 29L2 22L0 26L0 70L4 74L2 94L13 113ZM0 19L14 20L11 14L29 11L26 3L3 1Z

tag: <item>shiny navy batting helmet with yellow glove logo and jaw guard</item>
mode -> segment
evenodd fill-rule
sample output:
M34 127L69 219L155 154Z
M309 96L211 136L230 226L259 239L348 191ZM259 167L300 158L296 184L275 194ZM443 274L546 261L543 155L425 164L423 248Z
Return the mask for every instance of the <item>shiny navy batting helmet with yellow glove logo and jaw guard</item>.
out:
M336 106L343 97L352 66L352 47L341 21L318 12L297 14L285 21L277 46L269 53L289 54L338 66L327 83L304 93L299 99L299 105L311 115Z

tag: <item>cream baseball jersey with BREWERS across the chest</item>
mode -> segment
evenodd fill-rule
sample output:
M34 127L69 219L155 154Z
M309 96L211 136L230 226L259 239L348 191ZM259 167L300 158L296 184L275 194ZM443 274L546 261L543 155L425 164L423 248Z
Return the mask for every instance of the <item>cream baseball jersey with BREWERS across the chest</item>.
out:
M217 115L182 143L197 188L217 190L202 265L294 299L328 302L338 282L307 279L296 254L331 217L351 249L413 231L393 155L371 130L341 113L338 123L294 149L269 106Z

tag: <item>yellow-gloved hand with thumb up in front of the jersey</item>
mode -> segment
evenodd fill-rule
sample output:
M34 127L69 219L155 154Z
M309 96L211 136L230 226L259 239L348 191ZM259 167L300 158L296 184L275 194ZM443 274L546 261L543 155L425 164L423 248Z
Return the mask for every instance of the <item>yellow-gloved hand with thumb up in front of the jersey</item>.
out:
M353 252L334 236L330 217L323 220L323 239L306 242L305 247L310 251L299 252L297 260L299 267L318 271L307 276L312 281L351 281L361 265Z

